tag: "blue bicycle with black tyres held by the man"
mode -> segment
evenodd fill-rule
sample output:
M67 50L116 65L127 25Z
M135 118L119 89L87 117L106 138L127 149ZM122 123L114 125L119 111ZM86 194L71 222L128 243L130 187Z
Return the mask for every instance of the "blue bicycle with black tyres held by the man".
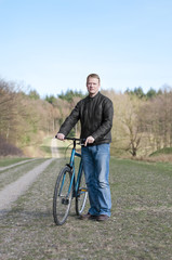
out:
M61 170L54 188L53 217L54 222L57 225L64 224L67 220L71 207L71 199L74 197L76 198L77 216L82 213L88 197L81 154L76 151L76 145L82 145L83 140L76 138L65 139L72 141L72 150L69 164L66 164L66 166ZM75 157L79 157L80 160L78 174L75 165Z

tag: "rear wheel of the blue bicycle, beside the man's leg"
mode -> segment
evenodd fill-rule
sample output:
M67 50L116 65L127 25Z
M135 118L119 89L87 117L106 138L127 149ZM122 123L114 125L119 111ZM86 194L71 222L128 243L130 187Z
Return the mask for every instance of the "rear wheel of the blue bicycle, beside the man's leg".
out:
M87 198L88 198L88 190L85 185L84 172L82 170L77 195L76 195L76 213L78 216L80 216L83 212L87 204Z

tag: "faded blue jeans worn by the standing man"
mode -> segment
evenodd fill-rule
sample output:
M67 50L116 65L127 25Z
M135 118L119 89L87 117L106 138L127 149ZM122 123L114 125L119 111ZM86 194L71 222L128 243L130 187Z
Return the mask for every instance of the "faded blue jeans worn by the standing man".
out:
M111 197L108 181L110 145L82 146L81 153L91 206L89 212L110 217Z

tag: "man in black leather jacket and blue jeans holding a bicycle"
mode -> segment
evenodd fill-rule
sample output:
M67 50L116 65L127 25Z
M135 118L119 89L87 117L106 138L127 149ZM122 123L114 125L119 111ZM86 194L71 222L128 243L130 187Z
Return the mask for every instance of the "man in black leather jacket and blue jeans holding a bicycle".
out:
M101 79L96 74L87 78L89 95L79 101L71 114L62 125L57 139L64 140L78 120L81 122L81 148L85 183L89 192L90 209L82 220L107 220L110 217L111 198L109 187L109 143L113 127L113 102L98 90Z

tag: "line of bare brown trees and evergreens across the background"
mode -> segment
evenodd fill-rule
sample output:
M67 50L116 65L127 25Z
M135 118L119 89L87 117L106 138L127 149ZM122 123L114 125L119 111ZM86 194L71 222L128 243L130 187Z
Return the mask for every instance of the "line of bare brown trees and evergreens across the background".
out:
M144 93L141 87L116 93L102 91L114 103L111 154L143 155L172 146L172 89L153 88ZM27 154L27 147L39 146L44 136L53 136L77 102L84 98L82 92L68 90L54 96L40 99L35 90L27 94L15 82L0 79L0 155L4 143ZM70 132L79 135L78 123ZM3 148L2 148L3 143Z

